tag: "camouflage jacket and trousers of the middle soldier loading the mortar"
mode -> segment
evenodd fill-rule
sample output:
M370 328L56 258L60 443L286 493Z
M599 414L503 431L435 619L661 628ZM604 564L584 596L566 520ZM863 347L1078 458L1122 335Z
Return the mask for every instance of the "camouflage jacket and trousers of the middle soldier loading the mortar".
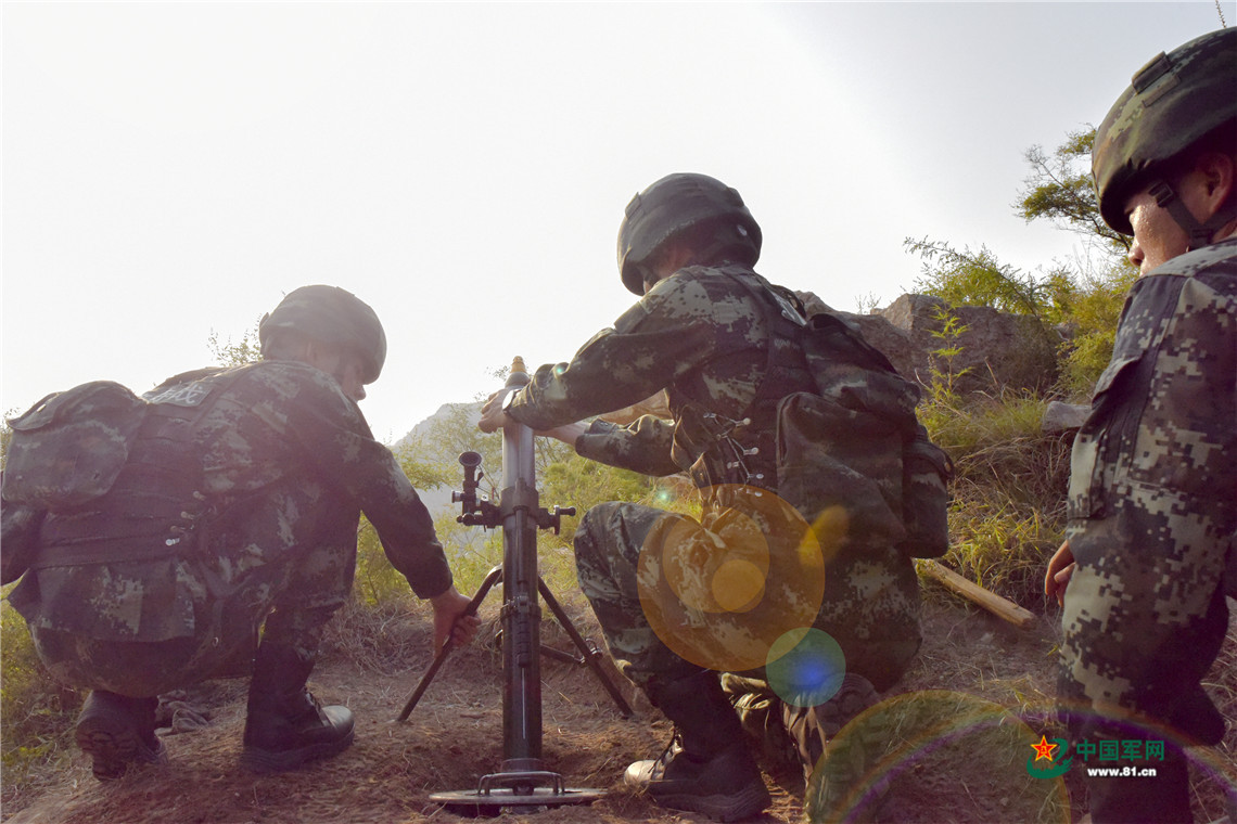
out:
M760 637L760 628L753 626L753 621L764 620L761 610L794 613L802 607L800 625L829 633L846 655L847 671L886 689L919 646L914 568L886 541L851 535L824 547L824 568L815 568L811 581L795 579L797 550L807 524L802 519L795 523L797 515L788 518L788 507L771 504L776 495L748 493L753 487L777 487L776 400L793 392L811 392L814 383L805 366L764 380L771 363L766 314L730 275L756 280L751 269L726 264L687 267L658 282L570 363L541 367L512 399L507 414L533 429L548 429L667 390L673 421L644 416L617 426L597 420L576 442L581 456L635 472L667 476L689 471L704 499L700 523L652 507L612 502L591 509L576 530L580 586L618 666L633 681L647 686L701 667L741 667L762 675L763 657L727 654L762 642L767 651L768 639ZM773 337L778 347L798 346ZM758 392L773 403L753 406ZM745 415L750 423L740 420ZM726 452L716 437L719 431L741 431L743 445L758 447L741 457L745 466L738 477L732 466L735 455ZM753 540L753 525L758 540ZM734 551L736 542L767 546L766 597L746 612L715 605L693 609L688 604L680 613L653 616L651 623L648 592L654 584L648 576L659 572L673 577L674 571L664 555L663 567L651 570L648 557L654 547L663 552L668 542L677 546L678 574L703 576L704 589L708 567L717 553ZM781 576L776 574L779 566ZM693 647L696 655L684 660L682 651L663 642L658 621L684 628L696 623L714 637L711 642L698 639Z

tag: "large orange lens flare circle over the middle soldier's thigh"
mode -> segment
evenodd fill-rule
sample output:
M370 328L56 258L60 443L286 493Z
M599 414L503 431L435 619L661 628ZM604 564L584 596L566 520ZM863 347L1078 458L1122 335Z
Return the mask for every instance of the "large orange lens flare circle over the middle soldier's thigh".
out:
M640 603L657 636L696 666L764 666L787 633L811 626L825 592L815 531L776 494L729 484L731 503L704 523L667 514L637 566Z

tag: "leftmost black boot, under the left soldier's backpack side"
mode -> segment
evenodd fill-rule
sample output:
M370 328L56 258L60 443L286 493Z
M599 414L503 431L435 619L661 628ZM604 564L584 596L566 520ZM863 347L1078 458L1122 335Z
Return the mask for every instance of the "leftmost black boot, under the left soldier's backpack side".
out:
M163 763L167 751L155 734L158 698L129 698L93 691L78 715L77 742L99 781L125 775L131 763Z

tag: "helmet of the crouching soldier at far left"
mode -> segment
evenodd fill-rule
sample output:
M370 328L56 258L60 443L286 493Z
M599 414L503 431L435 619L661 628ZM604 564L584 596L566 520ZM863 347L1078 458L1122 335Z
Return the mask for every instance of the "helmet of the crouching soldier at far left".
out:
M364 300L339 287L301 287L262 316L257 340L266 355L271 332L287 329L323 343L351 350L362 359L362 383L374 383L386 361L386 332Z

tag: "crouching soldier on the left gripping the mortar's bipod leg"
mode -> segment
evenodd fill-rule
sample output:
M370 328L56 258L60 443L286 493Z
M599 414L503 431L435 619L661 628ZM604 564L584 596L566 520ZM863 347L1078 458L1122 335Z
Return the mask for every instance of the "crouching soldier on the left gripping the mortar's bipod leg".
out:
M433 604L437 645L468 607L429 513L356 405L386 358L374 310L303 287L259 338L261 362L176 376L145 401L96 382L12 421L5 583L22 576L10 602L48 671L92 689L77 742L99 780L162 761L157 696L238 657L252 657L242 763L289 770L351 744L351 712L322 707L306 682L350 597L361 510ZM66 455L89 472L45 483ZM475 628L464 618L453 637Z

